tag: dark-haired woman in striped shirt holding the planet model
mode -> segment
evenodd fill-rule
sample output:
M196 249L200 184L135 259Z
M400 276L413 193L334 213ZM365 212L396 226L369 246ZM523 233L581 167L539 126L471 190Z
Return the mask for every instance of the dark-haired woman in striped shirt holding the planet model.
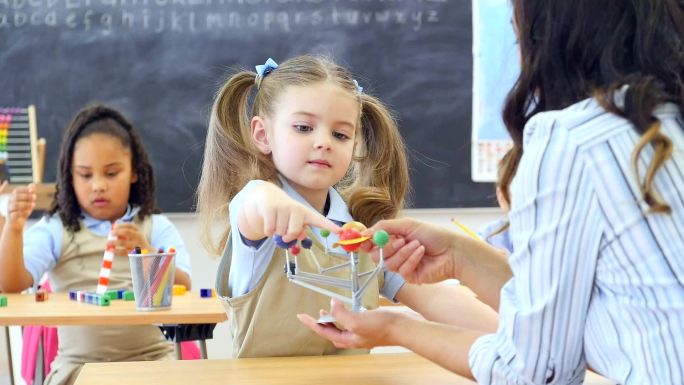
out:
M679 0L513 0L521 74L504 120L520 157L514 253L409 219L388 267L457 278L495 334L396 313L315 325L338 346L402 345L485 384L684 384L684 12ZM408 331L411 331L410 333Z

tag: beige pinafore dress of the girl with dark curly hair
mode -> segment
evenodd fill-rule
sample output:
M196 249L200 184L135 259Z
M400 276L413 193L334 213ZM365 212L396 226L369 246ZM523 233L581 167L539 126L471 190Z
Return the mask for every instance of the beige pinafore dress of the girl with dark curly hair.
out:
M152 218L135 221L149 240ZM81 222L76 233L62 231L62 252L48 273L55 292L85 290L94 292L102 265L105 236L87 230ZM130 264L115 257L109 278L110 290L132 290ZM95 306L95 305L88 305ZM106 323L106 321L104 321ZM71 385L86 362L151 361L173 359L173 346L154 325L141 326L60 326L59 349L52 362L46 385Z

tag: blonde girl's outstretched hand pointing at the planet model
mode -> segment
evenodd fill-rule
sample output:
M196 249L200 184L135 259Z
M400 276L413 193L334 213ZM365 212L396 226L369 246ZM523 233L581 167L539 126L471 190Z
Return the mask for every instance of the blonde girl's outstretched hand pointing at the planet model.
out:
M250 191L240 210L238 227L247 239L258 240L275 234L283 241L306 237L305 226L339 232L339 226L290 198L272 183L263 183Z

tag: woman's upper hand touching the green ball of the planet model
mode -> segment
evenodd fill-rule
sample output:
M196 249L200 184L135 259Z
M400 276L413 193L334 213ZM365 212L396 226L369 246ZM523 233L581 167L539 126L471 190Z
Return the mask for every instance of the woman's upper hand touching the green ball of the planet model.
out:
M435 283L458 278L459 261L453 246L457 234L402 218L380 221L364 235L372 236L378 230L385 230L392 237L383 248L387 268L401 274L407 282ZM378 253L378 250L372 253L376 260Z

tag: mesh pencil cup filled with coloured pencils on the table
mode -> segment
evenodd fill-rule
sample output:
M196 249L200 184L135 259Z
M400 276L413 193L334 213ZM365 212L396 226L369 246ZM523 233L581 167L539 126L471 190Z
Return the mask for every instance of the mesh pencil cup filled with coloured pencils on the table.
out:
M140 311L171 308L176 253L128 254L135 307Z

